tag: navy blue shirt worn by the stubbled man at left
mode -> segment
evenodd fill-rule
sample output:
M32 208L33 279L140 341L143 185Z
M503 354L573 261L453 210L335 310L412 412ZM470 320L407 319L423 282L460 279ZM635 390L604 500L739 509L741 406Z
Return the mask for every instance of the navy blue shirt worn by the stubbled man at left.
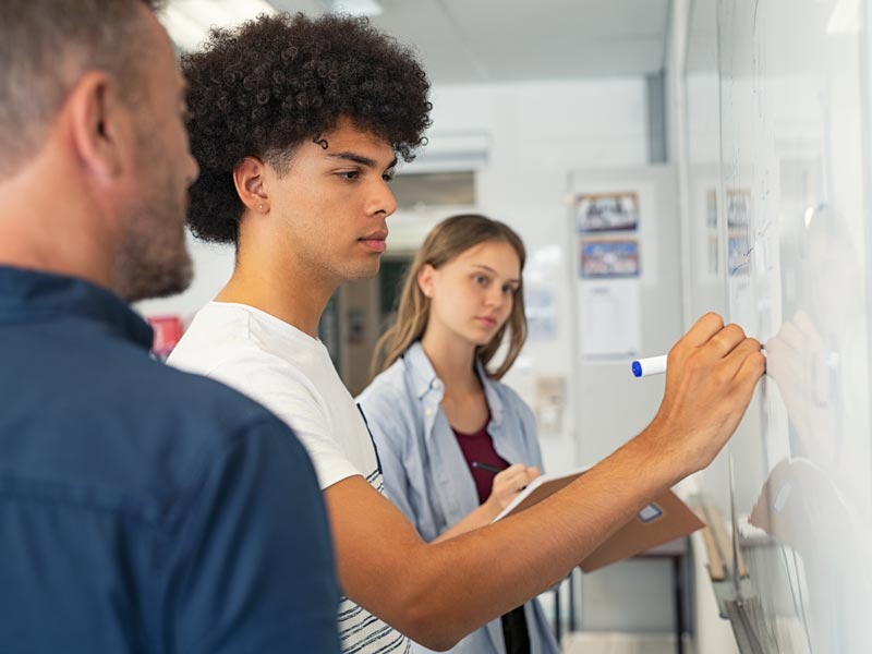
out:
M0 652L338 652L315 473L88 282L0 266Z

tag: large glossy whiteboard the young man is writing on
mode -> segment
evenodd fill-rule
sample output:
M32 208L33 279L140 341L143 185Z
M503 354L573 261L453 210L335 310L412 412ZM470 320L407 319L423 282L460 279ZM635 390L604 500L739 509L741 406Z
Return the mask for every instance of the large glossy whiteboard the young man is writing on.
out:
M690 308L724 312L767 354L702 475L731 534L722 600L749 651L872 652L869 2L693 12Z

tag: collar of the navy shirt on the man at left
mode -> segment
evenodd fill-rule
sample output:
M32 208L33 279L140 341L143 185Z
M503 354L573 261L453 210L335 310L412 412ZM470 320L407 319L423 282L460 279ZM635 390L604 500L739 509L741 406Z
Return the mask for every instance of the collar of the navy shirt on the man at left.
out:
M84 279L0 266L0 324L75 315L108 325L145 350L154 332L126 302Z

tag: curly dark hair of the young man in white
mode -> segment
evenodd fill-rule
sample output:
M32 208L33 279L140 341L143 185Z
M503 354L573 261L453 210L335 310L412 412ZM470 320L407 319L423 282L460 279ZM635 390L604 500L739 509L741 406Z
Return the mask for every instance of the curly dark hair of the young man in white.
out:
M244 157L283 172L295 146L319 142L344 118L411 161L431 124L424 70L366 19L262 15L213 29L202 50L182 57L182 71L201 167L187 220L206 241L237 243L243 205L232 175Z

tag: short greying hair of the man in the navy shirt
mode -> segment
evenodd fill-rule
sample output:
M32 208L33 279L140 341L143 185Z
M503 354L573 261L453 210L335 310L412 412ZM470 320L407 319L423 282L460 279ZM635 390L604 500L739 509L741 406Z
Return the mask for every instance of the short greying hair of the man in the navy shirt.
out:
M142 87L142 7L160 0L0 2L0 179L40 149L70 88L106 71L125 99Z

